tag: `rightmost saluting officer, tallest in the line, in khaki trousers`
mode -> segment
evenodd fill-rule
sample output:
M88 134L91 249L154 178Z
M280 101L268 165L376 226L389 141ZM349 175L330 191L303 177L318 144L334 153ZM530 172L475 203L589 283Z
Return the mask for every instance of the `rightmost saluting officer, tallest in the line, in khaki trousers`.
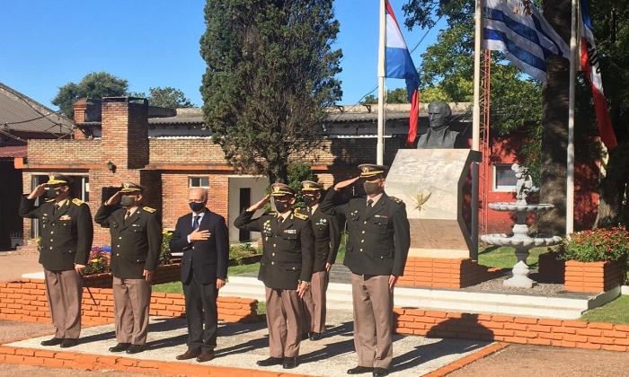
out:
M345 266L351 270L354 346L359 365L349 374L385 376L393 359L393 292L411 244L403 202L385 194L384 165L359 165L360 176L337 183L321 203L323 213L341 212L349 232ZM367 197L334 206L337 192L363 180Z

